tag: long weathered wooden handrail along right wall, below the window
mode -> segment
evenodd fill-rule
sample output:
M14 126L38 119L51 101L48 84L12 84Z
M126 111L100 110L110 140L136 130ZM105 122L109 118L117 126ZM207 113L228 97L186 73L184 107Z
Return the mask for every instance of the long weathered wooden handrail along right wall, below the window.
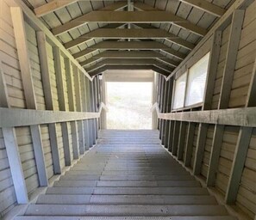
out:
M214 125L256 126L256 107L228 108L183 113L160 113L159 104L155 103L153 104L151 111L156 111L159 119Z

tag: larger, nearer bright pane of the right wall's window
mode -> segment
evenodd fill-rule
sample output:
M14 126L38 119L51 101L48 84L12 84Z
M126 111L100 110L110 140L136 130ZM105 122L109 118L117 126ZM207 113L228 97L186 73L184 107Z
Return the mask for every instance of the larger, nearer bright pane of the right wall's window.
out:
M203 101L208 63L209 53L190 68L188 88L186 91L186 107Z

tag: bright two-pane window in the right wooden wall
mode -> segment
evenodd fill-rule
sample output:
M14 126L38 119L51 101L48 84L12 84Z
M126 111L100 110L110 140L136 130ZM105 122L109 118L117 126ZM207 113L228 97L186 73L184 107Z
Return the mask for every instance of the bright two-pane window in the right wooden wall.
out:
M175 81L173 109L203 102L209 53Z

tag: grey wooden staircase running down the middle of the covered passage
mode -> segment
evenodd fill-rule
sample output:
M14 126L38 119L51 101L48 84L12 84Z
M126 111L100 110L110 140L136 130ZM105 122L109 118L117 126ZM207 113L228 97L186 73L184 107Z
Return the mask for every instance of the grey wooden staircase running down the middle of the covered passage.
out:
M92 148L16 220L234 220L160 146L158 131L100 131Z

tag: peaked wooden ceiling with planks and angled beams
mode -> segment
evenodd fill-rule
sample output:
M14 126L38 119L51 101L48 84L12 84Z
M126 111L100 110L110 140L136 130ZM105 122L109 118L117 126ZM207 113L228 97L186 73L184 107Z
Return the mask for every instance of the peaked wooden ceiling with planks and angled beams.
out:
M23 0L91 76L168 76L234 0Z

